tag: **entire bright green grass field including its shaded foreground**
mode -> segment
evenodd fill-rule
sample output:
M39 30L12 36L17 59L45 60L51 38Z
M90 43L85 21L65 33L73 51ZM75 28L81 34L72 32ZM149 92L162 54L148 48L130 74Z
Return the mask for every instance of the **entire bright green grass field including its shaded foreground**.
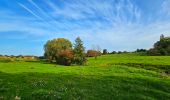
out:
M115 54L84 66L0 62L0 100L168 100L170 56Z

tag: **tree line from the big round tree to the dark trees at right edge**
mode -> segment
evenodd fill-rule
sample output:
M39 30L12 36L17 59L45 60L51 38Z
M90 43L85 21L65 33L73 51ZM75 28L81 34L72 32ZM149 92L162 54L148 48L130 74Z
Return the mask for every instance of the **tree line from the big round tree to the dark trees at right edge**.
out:
M96 50L90 49L86 52L80 37L77 37L73 44L65 38L48 40L44 45L44 50L44 57L50 62L62 65L82 65L87 61L86 57L95 57L95 59L97 59L97 56L102 54L141 53L151 56L170 55L170 37L161 35L160 40L154 44L153 48L149 50L137 49L134 52L112 51L109 53L107 49L103 49L103 52L101 52L99 47Z

